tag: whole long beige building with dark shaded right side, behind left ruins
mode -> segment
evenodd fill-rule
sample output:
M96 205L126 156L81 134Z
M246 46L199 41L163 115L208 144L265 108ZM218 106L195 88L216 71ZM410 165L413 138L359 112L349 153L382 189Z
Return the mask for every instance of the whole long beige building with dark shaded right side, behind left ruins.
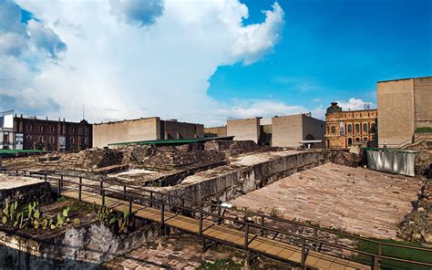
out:
M93 124L93 147L142 140L175 140L204 137L201 124L161 120L159 117Z

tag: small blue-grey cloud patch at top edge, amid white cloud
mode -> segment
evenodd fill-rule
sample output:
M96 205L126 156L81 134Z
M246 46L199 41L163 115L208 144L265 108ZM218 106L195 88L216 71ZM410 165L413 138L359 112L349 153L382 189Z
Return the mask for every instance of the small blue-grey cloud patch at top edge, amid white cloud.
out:
M162 0L109 0L111 14L131 26L149 26L162 15Z

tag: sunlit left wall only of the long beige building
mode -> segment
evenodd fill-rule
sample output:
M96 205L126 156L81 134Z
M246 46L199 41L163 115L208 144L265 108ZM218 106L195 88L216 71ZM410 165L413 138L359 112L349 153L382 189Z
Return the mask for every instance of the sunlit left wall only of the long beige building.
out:
M160 119L133 119L93 125L93 147L108 146L108 143L138 140L159 140Z

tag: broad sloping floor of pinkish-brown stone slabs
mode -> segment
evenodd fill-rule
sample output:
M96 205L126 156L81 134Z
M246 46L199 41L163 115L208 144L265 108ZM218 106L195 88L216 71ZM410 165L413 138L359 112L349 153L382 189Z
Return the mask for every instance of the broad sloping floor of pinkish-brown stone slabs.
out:
M421 184L415 178L327 163L231 203L365 237L396 239L397 224L411 212Z

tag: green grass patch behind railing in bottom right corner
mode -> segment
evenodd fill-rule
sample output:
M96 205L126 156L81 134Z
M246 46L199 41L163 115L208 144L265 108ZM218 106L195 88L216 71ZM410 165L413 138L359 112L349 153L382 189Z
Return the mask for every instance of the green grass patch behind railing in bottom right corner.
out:
M386 242L386 243L391 243L391 244L405 244L408 246L416 246L416 247L423 247L424 248L424 246L422 246L421 244L410 243L410 242L399 242L399 241L394 241L394 240L382 240L381 242ZM357 242L357 249L368 252L368 253L372 253L372 254L378 254L378 244L371 243L368 241L362 241L362 240L358 241ZM397 246L383 245L383 255L389 255L389 256L391 255L394 257L401 258L401 259L432 264L432 249L431 249L431 252L426 252L426 251L412 250L409 248L401 248L401 247L397 247ZM372 257L365 255L365 254L358 254L354 257L354 259L356 262L364 264L364 265L372 265L373 264L372 263ZM430 270L430 267L383 259L383 260L381 260L381 269Z

